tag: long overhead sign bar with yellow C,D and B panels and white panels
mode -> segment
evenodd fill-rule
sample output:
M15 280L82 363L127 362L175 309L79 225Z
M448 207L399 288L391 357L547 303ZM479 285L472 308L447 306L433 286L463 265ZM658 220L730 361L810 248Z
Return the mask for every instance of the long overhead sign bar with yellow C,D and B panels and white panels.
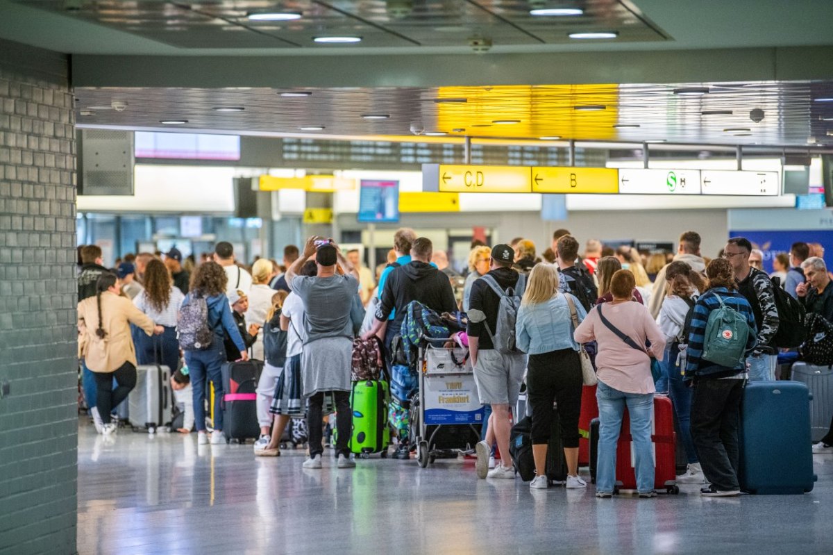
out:
M422 164L433 193L583 193L776 197L778 172Z

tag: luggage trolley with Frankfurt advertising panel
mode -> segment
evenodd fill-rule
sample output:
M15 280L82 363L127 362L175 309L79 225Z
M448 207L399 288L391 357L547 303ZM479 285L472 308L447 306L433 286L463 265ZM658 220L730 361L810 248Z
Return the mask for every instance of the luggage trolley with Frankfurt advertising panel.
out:
M426 468L444 452L471 449L479 442L484 411L468 349L430 344L420 348L417 373L419 393L412 403L411 429L416 460Z

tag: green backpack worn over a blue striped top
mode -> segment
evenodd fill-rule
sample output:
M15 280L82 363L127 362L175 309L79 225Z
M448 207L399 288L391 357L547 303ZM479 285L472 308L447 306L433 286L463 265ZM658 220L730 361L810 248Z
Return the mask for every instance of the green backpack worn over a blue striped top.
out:
M726 368L735 368L746 359L749 323L743 314L723 303L719 294L715 294L715 297L721 303L721 308L709 314L702 358Z

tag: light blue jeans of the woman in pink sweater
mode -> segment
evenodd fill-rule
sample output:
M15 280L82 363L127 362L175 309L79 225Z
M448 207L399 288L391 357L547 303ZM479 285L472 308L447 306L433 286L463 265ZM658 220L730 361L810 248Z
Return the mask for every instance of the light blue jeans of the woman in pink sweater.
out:
M596 464L596 491L611 493L616 485L616 443L627 407L631 415L631 438L636 455L636 489L654 491L654 457L651 450L651 411L653 393L624 393L599 381L599 455Z

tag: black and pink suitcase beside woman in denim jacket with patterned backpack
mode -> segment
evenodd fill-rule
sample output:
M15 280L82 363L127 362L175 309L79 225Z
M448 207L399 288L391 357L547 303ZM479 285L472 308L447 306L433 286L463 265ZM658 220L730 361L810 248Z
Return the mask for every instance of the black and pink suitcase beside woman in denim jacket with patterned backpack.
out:
M259 360L222 365L222 432L226 443L260 437L257 423L257 382L263 370Z

